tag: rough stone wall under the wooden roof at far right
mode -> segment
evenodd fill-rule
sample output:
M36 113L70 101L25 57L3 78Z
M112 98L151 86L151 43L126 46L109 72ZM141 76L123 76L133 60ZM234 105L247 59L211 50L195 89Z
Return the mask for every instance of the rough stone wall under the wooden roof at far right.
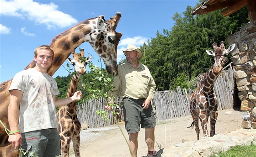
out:
M227 42L236 43L231 60L241 100L241 125L256 129L256 21L242 26L240 31L227 37Z

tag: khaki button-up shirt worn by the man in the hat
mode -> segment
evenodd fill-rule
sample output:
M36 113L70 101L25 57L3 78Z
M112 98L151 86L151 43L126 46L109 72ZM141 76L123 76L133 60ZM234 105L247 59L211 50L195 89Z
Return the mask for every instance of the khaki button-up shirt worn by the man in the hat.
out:
M126 62L118 66L118 75L115 76L113 82L113 91L108 92L108 96L120 99L125 97L133 99L149 99L155 96L155 81L152 78L149 68L139 63L134 68L130 63ZM109 99L113 103L113 99Z

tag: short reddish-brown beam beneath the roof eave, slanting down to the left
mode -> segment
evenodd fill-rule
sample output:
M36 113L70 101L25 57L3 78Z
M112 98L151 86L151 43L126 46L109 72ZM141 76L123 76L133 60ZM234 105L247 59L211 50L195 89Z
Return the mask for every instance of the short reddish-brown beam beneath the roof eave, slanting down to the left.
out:
M240 10L245 5L247 5L247 1L248 0L234 0L233 5L230 5L227 9L221 11L222 15L225 17L225 16L229 16L230 14L233 14L237 10Z

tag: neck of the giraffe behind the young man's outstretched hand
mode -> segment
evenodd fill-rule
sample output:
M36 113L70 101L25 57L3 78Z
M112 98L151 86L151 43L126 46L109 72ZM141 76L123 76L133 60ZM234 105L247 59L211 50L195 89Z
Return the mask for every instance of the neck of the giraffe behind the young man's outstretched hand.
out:
M69 89L68 89L68 93L67 93L67 98L70 98L72 95L74 95L74 93L77 90L78 87L78 81L80 78L80 74L74 74L70 84L69 84ZM68 114L70 116L75 115L76 114L76 101L73 101L67 105L65 105L66 111L68 112Z

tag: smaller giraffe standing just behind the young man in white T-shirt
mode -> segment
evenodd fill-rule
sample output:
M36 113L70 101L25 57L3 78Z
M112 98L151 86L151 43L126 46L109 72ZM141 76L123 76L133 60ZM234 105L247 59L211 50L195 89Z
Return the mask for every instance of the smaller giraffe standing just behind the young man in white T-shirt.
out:
M72 54L73 60L71 60L70 58L68 58L68 60L74 66L75 74L73 74L73 77L70 81L66 98L71 97L76 92L80 75L86 73L85 66L91 59L88 57L85 59L85 62L81 62L80 57L84 57L84 49L81 49L80 53L78 54L76 54L75 51ZM81 124L76 115L75 101L60 107L59 111L57 112L57 117L59 120L58 132L61 141L62 156L69 157L69 145L72 141L75 151L75 157L80 157L79 147Z

